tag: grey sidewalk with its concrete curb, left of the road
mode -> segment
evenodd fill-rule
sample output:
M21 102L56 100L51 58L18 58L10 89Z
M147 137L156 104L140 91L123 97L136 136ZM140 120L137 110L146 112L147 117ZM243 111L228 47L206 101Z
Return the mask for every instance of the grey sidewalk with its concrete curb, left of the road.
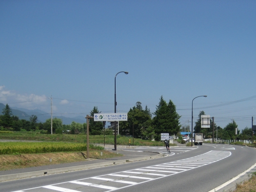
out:
M101 144L98 144L101 145ZM74 163L62 163L56 165L46 165L46 166L38 166L38 167L28 167L24 169L14 169L8 171L0 171L0 181L4 180L12 180L18 178L26 178L26 177L34 177L41 176L46 174L54 174L66 171L75 171L75 170L84 170L93 167L101 167L108 165L116 165L128 162L134 162L139 160L147 160L163 157L163 154L156 152L136 152L136 151L124 151L120 148L135 148L132 146L117 146L117 150L114 151L114 145L105 145L106 150L111 150L112 152L120 153L123 156L114 157L114 158L106 158L106 159L89 159L87 161L82 162L74 162ZM139 146L136 146L139 147Z

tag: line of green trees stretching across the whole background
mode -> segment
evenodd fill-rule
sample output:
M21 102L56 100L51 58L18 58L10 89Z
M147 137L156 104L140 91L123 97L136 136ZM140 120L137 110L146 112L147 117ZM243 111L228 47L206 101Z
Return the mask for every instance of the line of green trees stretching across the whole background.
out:
M99 112L97 107L94 107L90 111L90 116L94 116L95 113ZM41 133L51 133L51 119L47 119L45 123L37 123L37 116L32 115L29 121L25 119L19 119L17 116L12 115L12 110L8 104L2 111L3 115L0 115L0 130L41 130ZM161 140L161 133L169 133L169 135L179 135L179 132L183 130L181 128L179 119L180 115L176 112L176 106L169 100L167 103L163 96L160 97L160 102L156 106L156 111L151 113L150 109L145 107L142 108L141 102L136 102L133 108L130 108L128 112L128 121L119 122L119 133L120 135L131 135L135 138L142 139L155 139ZM152 115L154 117L152 118ZM210 128L201 128L201 115L205 115L204 111L200 111L197 122L193 129L193 133L203 133L204 138L212 138L213 125L210 119ZM104 132L104 125L106 122L94 121L92 118L89 119L89 134L90 135L102 135ZM188 126L189 127L189 126ZM87 129L86 123L72 122L70 125L62 124L62 120L59 118L53 118L53 133L69 133L79 134L85 133ZM251 139L251 128L245 128L241 131L238 130L235 135L235 128L237 128L236 122L229 123L223 129L214 123L214 137L220 139ZM106 135L113 135L113 128L105 130ZM254 136L255 137L255 136ZM256 139L256 138L254 138Z

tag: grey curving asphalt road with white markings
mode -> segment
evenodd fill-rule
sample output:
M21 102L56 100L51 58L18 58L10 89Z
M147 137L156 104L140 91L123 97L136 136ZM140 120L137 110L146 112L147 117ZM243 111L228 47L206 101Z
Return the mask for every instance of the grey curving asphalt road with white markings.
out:
M162 151L163 147L122 149ZM6 181L1 192L208 192L255 164L256 149L238 145L203 144L171 148L169 156Z

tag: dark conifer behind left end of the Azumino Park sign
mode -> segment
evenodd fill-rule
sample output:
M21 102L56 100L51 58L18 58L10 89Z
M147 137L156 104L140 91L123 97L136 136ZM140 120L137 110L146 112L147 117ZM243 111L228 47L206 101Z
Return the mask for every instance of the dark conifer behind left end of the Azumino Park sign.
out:
M98 107L94 107L90 112L90 116L94 117L95 113L100 113ZM103 129L103 123L100 121L94 121L93 118L89 119L89 134L90 135L101 135Z

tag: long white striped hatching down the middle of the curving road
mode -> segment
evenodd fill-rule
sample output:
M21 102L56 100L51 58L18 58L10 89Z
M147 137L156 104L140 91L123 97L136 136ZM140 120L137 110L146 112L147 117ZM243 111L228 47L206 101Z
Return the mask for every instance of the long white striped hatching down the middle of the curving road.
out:
M168 162L168 163L163 163L163 164L159 164L159 165L141 167L139 169L127 170L127 171L111 173L111 174L106 174L106 175L101 175L101 176L96 176L96 177L83 178L83 179L78 179L78 180L74 180L74 181L57 183L57 184L53 184L53 185L30 188L30 189L26 189L26 192L29 192L29 190L31 190L31 189L34 190L36 188L40 188L41 191L43 191L42 188L48 188L48 189L52 189L55 191L61 191L61 192L78 192L76 190L59 187L61 185L65 185L67 183L76 184L76 185L78 185L77 188L80 188L79 185L86 185L86 186L90 186L90 187L99 187L99 188L102 188L102 190L105 189L105 191L102 191L102 192L110 192L110 191L115 191L115 190L118 190L121 188L134 186L134 185L142 184L142 183L149 182L152 180L160 179L163 177L173 176L175 174L182 173L184 171L196 169L197 167L209 165L211 163L215 163L215 162L218 162L219 160L227 158L230 155L231 155L230 151L209 151L202 155L198 155L198 156L187 158L187 159L177 160L175 162ZM170 168L170 167L173 167L173 168ZM180 168L184 168L184 169L180 169ZM171 170L173 170L173 171L171 171ZM157 172L160 172L162 174L158 174ZM154 177L153 178L143 177L146 175L148 175L148 176L151 175ZM132 180L132 178L133 178L133 180ZM95 179L95 182L96 182L96 180L102 180L102 182L103 182L102 185L95 184L94 179ZM136 179L137 182L134 182L134 179ZM90 182L85 182L85 181L90 181ZM108 182L108 184L106 183L106 185L104 185L105 182ZM125 186L116 187L117 186L115 184L116 182L123 183L123 185L125 185ZM56 185L58 185L58 187ZM92 190L92 189L90 188L88 190ZM16 192L18 192L18 191L16 191ZM24 190L19 191L19 192L24 192Z

